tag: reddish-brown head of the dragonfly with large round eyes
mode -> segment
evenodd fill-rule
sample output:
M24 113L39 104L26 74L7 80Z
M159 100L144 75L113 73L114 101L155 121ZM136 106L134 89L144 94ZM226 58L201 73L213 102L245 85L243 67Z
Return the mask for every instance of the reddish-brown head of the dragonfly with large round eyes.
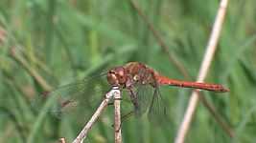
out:
M107 82L112 86L124 87L128 80L124 67L116 67L107 72Z

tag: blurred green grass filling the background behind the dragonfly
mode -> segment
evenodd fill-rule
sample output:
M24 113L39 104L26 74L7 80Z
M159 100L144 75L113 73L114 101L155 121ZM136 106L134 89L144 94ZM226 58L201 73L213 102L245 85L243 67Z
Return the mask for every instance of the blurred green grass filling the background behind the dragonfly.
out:
M192 77L189 80L195 80L219 1L139 0L136 4L171 56ZM256 1L230 1L206 79L230 92L203 92L235 137L223 132L200 104L186 142L255 142L255 26ZM168 56L128 0L1 0L0 142L50 143L59 137L70 142L86 120L82 116L59 120L35 111L31 102L36 96L128 61L141 61L169 77L188 80ZM178 88L163 91L172 122L155 128L145 118L131 117L122 126L124 142L173 142L190 93ZM87 142L113 142L112 109L93 126Z

